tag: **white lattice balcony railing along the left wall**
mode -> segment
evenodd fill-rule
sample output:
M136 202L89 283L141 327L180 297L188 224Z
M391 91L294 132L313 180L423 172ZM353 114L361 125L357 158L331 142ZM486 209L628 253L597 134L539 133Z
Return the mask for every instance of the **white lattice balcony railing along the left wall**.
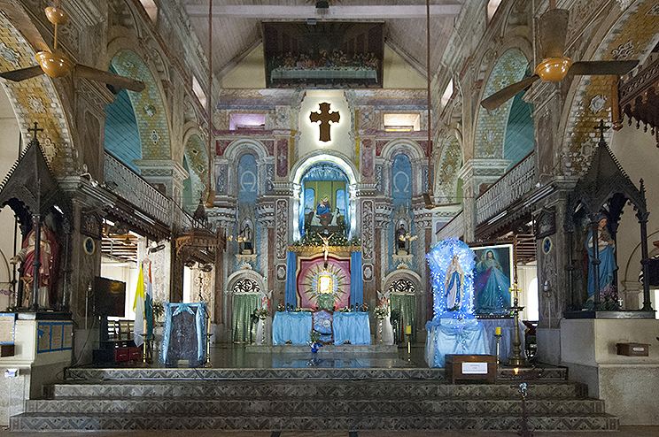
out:
M170 223L169 199L153 188L149 182L105 152L105 183L117 184L112 191L132 203L141 211L162 223Z

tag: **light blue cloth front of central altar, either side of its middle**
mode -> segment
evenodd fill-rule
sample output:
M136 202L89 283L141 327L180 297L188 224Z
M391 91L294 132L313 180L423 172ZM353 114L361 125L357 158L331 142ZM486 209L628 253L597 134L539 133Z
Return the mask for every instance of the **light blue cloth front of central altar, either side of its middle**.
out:
M335 311L331 321L334 344L371 344L368 312ZM313 316L309 311L278 311L272 322L272 344L306 345L311 341ZM287 341L289 341L287 343Z

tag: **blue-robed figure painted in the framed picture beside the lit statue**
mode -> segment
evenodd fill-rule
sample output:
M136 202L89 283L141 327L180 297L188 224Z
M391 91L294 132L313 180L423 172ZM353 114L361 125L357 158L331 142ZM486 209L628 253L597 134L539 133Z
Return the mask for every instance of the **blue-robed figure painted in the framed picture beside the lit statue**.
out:
M508 310L510 280L501 269L499 256L494 250L487 250L476 265L475 290L477 308L480 312L501 312Z

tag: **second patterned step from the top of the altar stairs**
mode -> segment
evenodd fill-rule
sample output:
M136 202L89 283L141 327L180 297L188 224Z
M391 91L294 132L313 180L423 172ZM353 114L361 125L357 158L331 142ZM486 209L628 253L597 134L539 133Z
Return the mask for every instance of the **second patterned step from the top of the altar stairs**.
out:
M445 380L134 380L69 382L46 387L46 396L62 398L323 398L323 399L516 399L516 383L449 384ZM587 387L575 382L529 382L531 398L585 398Z

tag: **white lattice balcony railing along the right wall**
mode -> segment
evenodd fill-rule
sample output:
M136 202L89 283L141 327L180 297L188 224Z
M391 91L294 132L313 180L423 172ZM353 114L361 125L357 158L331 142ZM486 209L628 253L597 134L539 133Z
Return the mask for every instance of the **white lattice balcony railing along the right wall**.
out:
M476 222L483 223L531 191L536 180L535 154L529 153L476 199Z

